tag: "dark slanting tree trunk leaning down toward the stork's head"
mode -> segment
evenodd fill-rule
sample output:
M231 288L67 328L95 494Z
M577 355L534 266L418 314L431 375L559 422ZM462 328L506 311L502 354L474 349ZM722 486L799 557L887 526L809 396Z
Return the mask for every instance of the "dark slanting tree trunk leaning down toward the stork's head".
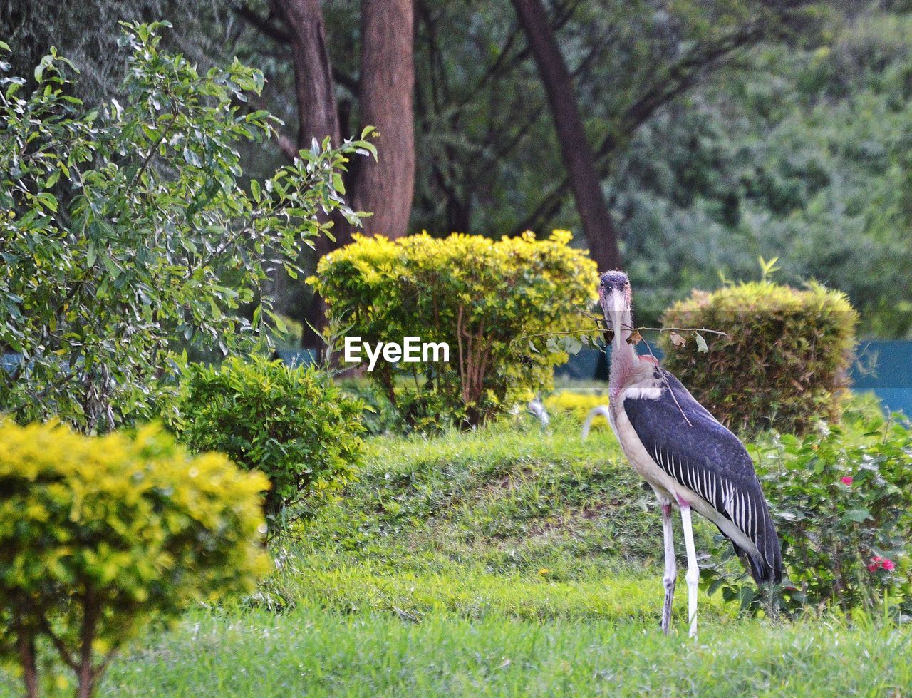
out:
M542 78L589 252L599 271L617 269L621 266L617 235L596 172L592 146L586 140L573 78L548 24L542 0L513 0L513 6Z

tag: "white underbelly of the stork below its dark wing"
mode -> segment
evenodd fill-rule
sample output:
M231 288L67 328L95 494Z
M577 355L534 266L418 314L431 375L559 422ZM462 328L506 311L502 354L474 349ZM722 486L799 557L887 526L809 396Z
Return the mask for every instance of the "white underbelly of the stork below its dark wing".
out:
M611 429L617 436L617 442L620 443L621 450L627 456L627 461L640 477L652 485L656 495L666 497L675 503L678 503L680 499L684 500L691 508L696 509L702 516L719 526L722 533L730 537L739 547L751 554L756 553L756 545L738 526L731 523L731 519L717 511L716 507L710 505L709 502L688 486L680 484L675 478L662 470L652 456L649 455L646 447L643 446L643 442L639 440L637 432L627 418L627 412L623 409L617 412L611 410L609 422L611 422Z

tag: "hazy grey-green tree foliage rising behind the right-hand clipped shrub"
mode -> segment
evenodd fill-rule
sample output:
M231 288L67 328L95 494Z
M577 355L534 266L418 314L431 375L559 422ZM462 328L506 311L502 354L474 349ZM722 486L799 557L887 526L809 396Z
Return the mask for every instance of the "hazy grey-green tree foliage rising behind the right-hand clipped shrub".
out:
M860 312L863 334L912 330L912 16L865 12L822 45L766 44L637 131L606 180L628 273L651 324L729 279L815 278Z

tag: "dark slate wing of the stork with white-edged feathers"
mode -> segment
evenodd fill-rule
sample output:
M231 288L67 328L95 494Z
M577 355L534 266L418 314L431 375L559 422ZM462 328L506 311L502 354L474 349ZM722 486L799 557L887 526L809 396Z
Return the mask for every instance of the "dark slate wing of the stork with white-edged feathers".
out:
M659 467L730 519L757 546L750 556L757 581L782 581L782 549L751 456L680 380L657 368L662 391L655 400L627 398L624 411ZM738 549L739 554L744 551Z

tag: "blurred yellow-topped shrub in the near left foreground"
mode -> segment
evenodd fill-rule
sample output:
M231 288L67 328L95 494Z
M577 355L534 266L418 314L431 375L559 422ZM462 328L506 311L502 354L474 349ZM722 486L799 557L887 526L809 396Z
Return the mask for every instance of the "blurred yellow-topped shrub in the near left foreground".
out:
M0 651L28 693L41 636L88 695L142 620L251 589L269 568L267 486L221 454L191 457L157 426L87 437L0 422Z

